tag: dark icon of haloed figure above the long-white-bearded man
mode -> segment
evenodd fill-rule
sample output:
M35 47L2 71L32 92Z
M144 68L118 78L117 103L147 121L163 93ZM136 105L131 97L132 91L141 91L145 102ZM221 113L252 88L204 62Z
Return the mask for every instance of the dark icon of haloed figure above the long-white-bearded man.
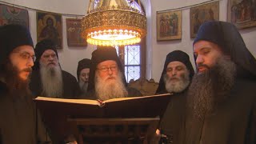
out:
M62 49L62 16L60 14L37 12L38 42L50 38Z

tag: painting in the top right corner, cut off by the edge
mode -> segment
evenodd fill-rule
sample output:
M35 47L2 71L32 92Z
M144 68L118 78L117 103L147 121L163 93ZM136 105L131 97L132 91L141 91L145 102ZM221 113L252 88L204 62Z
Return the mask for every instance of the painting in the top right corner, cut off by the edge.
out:
M238 29L256 26L256 1L228 0L227 19Z

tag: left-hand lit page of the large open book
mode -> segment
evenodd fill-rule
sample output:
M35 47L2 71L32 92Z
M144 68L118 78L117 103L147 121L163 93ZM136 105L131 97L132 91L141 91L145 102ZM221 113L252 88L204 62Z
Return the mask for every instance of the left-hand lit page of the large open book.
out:
M67 102L67 103L78 103L78 104L89 104L89 105L99 105L96 100L90 99L66 99L66 98L47 98L47 97L37 97L37 101L50 101L50 102Z

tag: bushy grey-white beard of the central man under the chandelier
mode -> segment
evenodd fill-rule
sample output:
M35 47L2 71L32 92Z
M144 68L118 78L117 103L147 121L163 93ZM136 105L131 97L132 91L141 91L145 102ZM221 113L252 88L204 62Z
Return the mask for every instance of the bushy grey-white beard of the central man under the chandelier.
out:
M113 77L113 76L112 76ZM118 76L112 79L102 79L96 72L95 75L95 92L98 99L105 101L111 98L125 98L128 91L122 82L122 74L118 71Z

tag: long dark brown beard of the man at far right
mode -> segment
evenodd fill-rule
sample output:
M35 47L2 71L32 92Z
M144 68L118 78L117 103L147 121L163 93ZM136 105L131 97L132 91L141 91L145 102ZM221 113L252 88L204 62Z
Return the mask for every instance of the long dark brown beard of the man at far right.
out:
M194 116L202 120L206 114L212 114L218 104L227 100L234 85L235 73L234 62L219 58L214 67L194 74L188 96Z

